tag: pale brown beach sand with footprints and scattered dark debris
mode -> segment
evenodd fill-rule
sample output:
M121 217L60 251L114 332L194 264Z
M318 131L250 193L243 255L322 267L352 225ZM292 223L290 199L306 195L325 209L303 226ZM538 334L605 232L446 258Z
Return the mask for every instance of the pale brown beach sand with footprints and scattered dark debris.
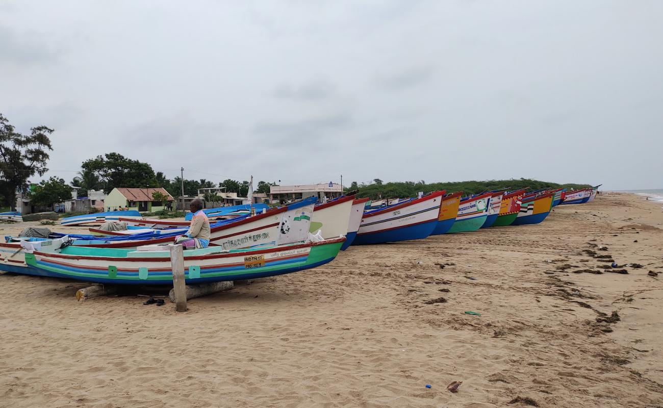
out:
M644 267L572 273L601 265L591 243ZM186 313L5 274L0 406L663 406L662 254L660 203L609 193L536 226L351 247Z

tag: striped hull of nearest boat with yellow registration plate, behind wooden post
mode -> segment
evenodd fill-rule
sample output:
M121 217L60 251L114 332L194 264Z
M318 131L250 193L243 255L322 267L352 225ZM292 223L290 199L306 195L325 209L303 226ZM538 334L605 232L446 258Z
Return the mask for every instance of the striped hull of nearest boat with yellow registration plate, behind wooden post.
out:
M184 251L187 284L238 281L311 269L333 260L345 238L261 249ZM116 285L172 285L169 251L129 251L70 246L62 253L34 251L29 267L48 276Z

